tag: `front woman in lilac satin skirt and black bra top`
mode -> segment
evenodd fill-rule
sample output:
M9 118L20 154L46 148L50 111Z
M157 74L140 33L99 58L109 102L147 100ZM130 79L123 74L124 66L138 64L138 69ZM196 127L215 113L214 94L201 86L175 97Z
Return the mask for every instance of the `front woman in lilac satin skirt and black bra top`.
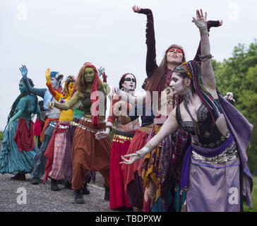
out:
M144 148L122 157L121 163L131 164L147 155L181 127L192 136L181 173L187 211L240 211L243 200L251 208L246 148L252 125L216 91L206 13L196 11L193 22L201 33L201 66L196 61L181 64L171 82L173 93L183 95L184 101Z

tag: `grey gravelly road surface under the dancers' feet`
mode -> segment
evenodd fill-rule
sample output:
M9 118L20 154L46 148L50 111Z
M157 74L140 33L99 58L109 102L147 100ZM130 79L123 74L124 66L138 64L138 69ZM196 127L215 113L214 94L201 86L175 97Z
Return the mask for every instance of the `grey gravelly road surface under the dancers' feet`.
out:
M84 204L74 203L73 190L59 184L59 191L51 191L50 181L45 184L31 184L31 177L25 181L11 180L12 174L0 174L0 212L117 212L109 209L104 201L103 178L97 172L95 184L89 184L90 194L83 195ZM26 192L26 204L18 204L21 191Z

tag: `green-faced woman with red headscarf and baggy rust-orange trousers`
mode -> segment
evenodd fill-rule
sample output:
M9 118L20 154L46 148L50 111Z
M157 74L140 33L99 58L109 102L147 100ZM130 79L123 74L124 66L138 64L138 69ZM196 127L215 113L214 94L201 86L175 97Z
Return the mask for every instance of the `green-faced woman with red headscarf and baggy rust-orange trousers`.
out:
M50 102L49 107L61 110L71 109L80 100L84 116L80 119L73 138L73 179L72 189L76 203L84 203L82 189L86 172L99 171L104 177L104 199L109 200L109 162L111 141L109 137L100 141L95 134L105 131L105 112L109 85L102 83L97 69L85 63L76 78L76 93L66 104Z

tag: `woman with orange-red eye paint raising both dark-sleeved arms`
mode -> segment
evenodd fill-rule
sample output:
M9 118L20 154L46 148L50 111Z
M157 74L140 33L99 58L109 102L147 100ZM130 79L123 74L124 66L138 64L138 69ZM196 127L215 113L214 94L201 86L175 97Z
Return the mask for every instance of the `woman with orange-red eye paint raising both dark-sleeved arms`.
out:
M177 44L172 44L167 48L165 52L165 57L163 57L160 66L156 63L156 51L155 51L155 30L153 22L153 13L148 8L138 8L133 6L133 11L135 13L143 13L147 15L146 24L146 73L148 78L145 81L145 90L147 91L147 96L150 98L150 105L153 105L153 110L155 113L155 126L150 136L155 136L160 130L163 122L167 119L169 112L181 102L182 98L179 95L173 95L172 90L169 88L169 83L172 79L172 71L176 66L179 66L185 61L184 49ZM222 23L219 21L208 21L208 29L212 26L219 26ZM199 51L199 49L198 49ZM198 54L196 54L198 57ZM157 102L154 103L153 94L157 93ZM124 95L121 91L117 93L118 95ZM125 95L123 100L125 100ZM131 97L130 97L131 100ZM135 100L136 102L136 100ZM171 201L172 198L167 198L169 195L170 186L173 187L172 195L177 191L179 185L179 170L181 169L181 159L186 150L186 142L188 141L188 133L178 129L176 133L165 138L165 141L160 143L160 145L155 148L152 153L145 156L142 161L142 177L143 184L145 186L144 195L144 211L151 211L153 204L161 196L163 205L162 210L167 210L171 206L167 200ZM172 146L172 143L174 145ZM172 174L169 168L174 169ZM172 179L171 179L172 178ZM172 182L172 184L171 184ZM175 190L175 191L174 191ZM173 200L177 201L183 197L179 197L179 193L176 193ZM174 207L177 211L181 209L179 202L174 202Z

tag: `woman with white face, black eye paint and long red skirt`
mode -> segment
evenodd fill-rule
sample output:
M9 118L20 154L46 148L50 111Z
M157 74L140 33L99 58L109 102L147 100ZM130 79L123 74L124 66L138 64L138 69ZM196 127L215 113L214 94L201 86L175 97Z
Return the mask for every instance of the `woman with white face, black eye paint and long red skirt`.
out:
M131 93L131 95L133 95L133 92L136 89L136 77L132 73L125 73L121 76L119 88L124 90L124 92ZM135 119L126 125L121 124L118 112L114 111L114 106L116 106L116 103L119 102L119 100L121 100L121 97L114 95L109 109L107 129L106 131L97 132L95 135L95 138L98 140L107 137L109 132L112 130L114 121L116 121L110 160L109 207L111 209L131 208L128 196L124 190L124 174L121 171L121 165L119 162L121 161L121 155L126 155L135 131L140 127L138 119ZM131 105L129 104L124 106L124 110L126 112L131 109Z

